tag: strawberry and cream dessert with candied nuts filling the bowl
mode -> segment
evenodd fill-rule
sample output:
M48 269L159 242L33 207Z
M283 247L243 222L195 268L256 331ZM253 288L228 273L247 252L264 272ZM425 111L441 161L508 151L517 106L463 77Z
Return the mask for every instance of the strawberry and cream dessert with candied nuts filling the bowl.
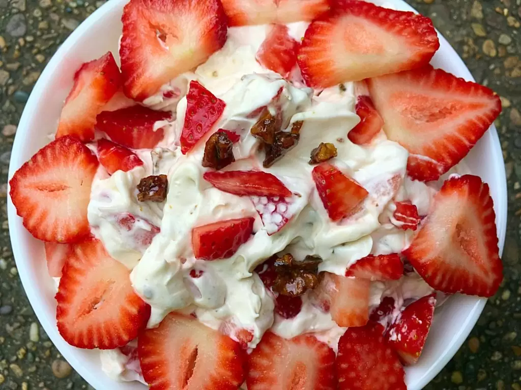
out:
M502 280L460 163L501 105L382 5L130 0L10 180L65 341L153 390L407 388L435 308Z

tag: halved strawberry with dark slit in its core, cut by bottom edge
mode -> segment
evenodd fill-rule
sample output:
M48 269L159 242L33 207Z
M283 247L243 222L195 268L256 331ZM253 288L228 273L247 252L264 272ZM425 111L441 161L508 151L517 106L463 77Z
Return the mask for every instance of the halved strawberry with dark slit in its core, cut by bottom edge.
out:
M138 355L151 390L237 390L244 380L239 344L177 313L139 335Z

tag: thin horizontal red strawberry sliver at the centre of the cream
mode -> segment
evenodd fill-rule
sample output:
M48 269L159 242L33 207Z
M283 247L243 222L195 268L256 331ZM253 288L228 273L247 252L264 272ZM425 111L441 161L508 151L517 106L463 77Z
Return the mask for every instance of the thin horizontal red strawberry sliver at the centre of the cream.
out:
M291 191L276 176L263 171L206 172L204 179L221 191L238 196L290 197Z

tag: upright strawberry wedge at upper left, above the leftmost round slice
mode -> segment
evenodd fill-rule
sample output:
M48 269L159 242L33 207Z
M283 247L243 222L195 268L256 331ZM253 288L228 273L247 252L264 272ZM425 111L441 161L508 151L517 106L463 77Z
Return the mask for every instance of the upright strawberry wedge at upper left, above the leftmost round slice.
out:
M121 74L112 53L84 63L74 75L74 85L61 110L56 138L73 135L84 142L92 141L96 115L120 86Z

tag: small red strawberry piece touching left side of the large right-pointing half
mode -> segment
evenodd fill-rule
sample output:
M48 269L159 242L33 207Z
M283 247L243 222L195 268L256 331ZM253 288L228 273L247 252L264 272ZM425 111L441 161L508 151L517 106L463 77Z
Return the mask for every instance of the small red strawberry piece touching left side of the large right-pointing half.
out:
M383 119L369 96L358 96L355 109L360 123L348 133L348 138L353 144L368 145L380 133Z

